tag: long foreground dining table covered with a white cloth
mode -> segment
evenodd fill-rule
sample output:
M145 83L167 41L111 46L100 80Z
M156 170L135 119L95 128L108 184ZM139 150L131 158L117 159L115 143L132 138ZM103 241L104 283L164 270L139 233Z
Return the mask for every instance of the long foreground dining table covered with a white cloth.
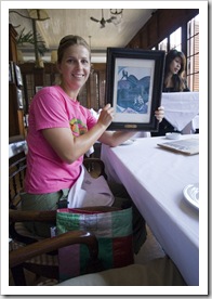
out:
M181 138L199 139L199 134ZM165 136L135 138L116 147L102 144L101 158L108 180L125 186L186 284L198 286L199 208L187 200L185 190L199 183L199 154L158 146L163 142Z

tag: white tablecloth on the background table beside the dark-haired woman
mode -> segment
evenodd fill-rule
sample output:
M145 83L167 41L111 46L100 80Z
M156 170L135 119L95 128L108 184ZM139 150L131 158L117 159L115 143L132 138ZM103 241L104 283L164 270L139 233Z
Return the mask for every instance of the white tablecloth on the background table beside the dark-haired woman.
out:
M164 92L161 105L164 107L164 118L182 131L199 114L199 92Z

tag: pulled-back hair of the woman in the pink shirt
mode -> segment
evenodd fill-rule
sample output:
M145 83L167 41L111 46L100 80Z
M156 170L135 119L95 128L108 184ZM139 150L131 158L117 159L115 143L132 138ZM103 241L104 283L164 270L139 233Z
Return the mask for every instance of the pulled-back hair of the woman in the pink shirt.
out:
M65 50L68 47L75 46L75 44L83 46L90 52L90 47L83 38L81 38L79 36L74 36L74 35L65 36L59 41L58 49L57 49L57 62L58 63L62 62Z

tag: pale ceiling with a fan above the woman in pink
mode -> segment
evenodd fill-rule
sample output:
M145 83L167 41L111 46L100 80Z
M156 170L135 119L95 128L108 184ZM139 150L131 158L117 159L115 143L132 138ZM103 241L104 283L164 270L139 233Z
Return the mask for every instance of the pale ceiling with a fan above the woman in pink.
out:
M51 4L51 2L48 2ZM9 10L16 11L22 15L29 16L28 10ZM91 16L101 20L102 10L83 10L83 9L50 9L45 10L49 20L36 22L37 31L41 35L47 48L43 60L50 60L51 51L56 50L59 40L66 35L79 35L83 37L88 43L91 42L91 49L94 56L105 56L107 47L125 47L134 35L143 27L143 25L151 16L155 11L153 9L124 9L122 21L119 25L106 23L105 28L101 28L101 24L90 20ZM104 18L108 20L110 15L109 9L104 9ZM22 17L14 12L10 12L9 22L15 27L16 31L25 28L25 32L32 31L32 22ZM89 38L91 36L91 38ZM34 49L25 46L23 49L25 60L35 57ZM104 54L103 54L104 53Z

